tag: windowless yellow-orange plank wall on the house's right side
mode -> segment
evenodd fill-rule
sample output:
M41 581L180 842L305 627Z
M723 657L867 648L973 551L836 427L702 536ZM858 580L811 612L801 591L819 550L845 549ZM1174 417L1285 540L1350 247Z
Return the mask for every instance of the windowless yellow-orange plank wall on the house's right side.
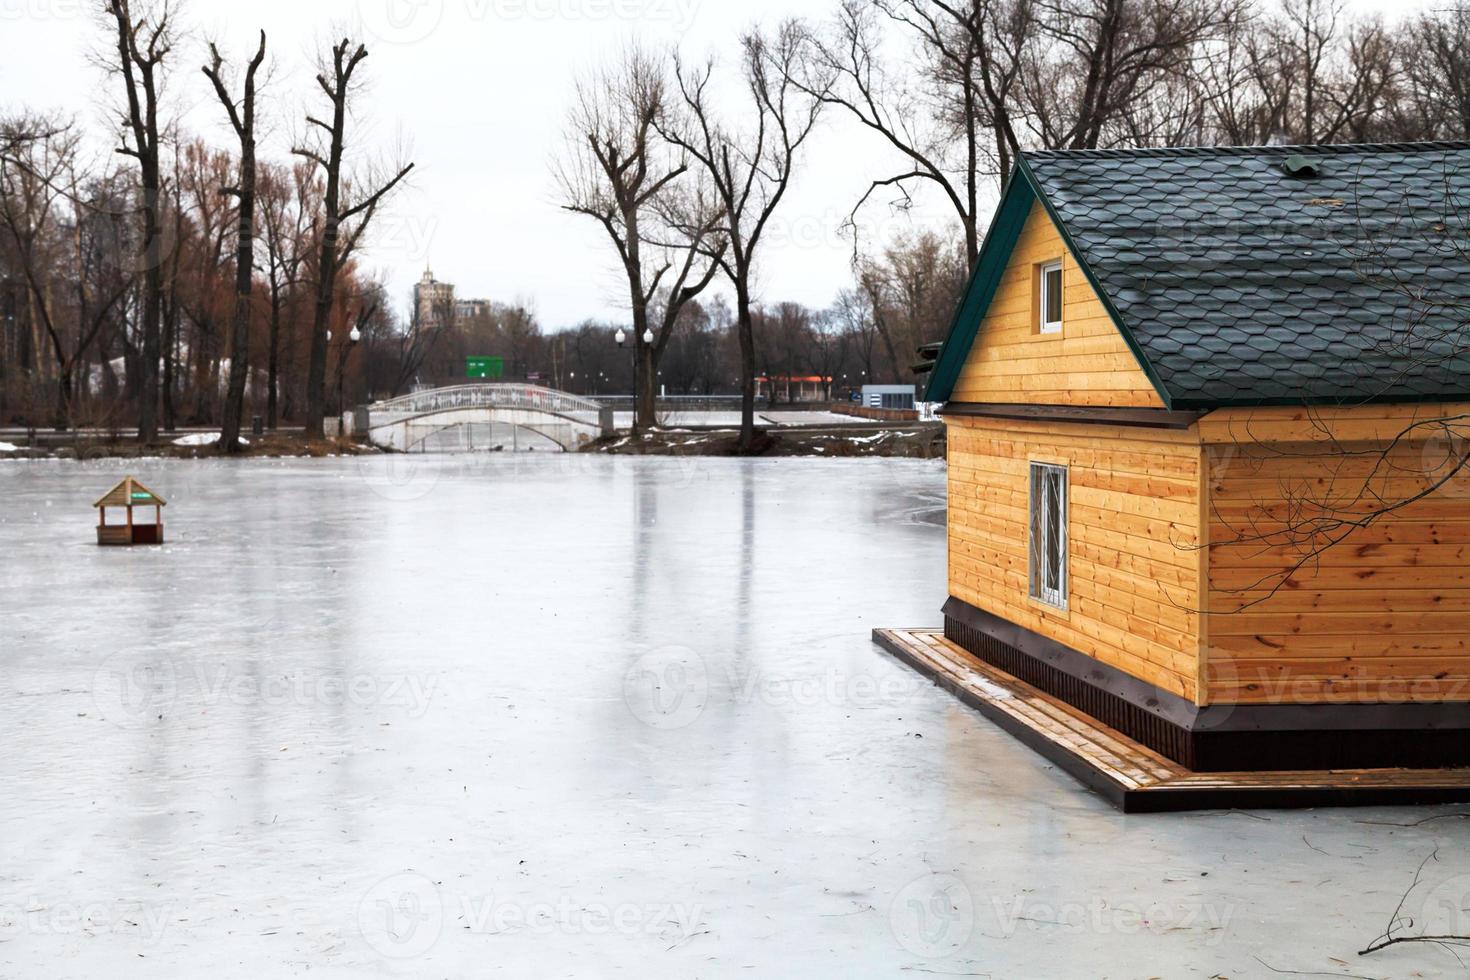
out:
M1305 563L1310 541L1279 539L1446 476L1464 453L1460 438L1410 439L1386 454L1385 442L1351 441L1396 435L1432 411L1338 410L1323 426L1302 410L1260 410L1250 432L1314 439L1269 445L1245 441L1242 413L1205 419L1210 438L1232 441L1205 447L1211 699L1470 701L1470 470L1367 527L1333 530L1341 542Z

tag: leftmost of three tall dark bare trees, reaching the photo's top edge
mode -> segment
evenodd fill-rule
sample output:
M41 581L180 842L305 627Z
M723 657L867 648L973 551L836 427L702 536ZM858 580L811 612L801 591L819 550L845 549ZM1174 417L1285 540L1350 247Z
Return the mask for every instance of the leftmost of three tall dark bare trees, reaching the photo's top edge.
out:
M138 385L138 441L153 442L159 435L159 317L163 303L163 222L159 147L162 123L159 98L163 65L173 50L172 0L106 0L118 41L118 60L112 63L123 81L122 145L118 153L138 162L143 182L143 360ZM131 137L131 141L129 141Z

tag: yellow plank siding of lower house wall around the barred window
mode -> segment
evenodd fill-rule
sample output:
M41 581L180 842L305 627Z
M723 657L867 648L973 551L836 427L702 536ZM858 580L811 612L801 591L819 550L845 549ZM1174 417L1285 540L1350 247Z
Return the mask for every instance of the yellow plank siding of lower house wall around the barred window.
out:
M951 416L950 594L1200 695L1200 447L1189 432ZM1069 608L1029 597L1029 464L1069 467Z

